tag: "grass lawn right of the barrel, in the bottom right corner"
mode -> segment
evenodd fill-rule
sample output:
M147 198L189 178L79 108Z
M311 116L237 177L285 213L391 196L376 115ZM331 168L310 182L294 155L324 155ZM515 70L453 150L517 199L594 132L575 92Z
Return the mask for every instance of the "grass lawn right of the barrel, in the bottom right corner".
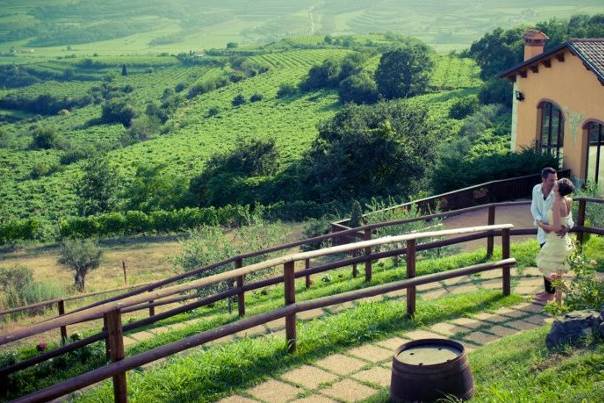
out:
M602 402L604 343L549 352L549 326L509 336L469 354L473 402ZM367 402L387 402L382 390Z

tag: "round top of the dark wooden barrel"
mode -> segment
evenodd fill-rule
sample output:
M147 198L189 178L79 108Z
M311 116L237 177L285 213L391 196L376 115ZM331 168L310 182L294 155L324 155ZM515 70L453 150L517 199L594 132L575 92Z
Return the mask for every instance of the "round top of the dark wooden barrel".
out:
M407 345L396 355L396 359L407 365L436 365L452 361L462 354L463 346L433 339Z

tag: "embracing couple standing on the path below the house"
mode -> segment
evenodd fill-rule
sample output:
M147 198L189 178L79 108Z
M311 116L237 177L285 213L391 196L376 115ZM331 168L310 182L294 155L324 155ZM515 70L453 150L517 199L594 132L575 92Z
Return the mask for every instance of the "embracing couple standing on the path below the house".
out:
M537 255L537 267L544 276L545 292L537 299L561 302L561 291L552 282L561 278L570 267L568 256L573 243L568 231L573 227L572 199L575 186L566 178L558 179L554 168L541 171L541 183L533 188L531 214L537 225L537 239L541 250Z

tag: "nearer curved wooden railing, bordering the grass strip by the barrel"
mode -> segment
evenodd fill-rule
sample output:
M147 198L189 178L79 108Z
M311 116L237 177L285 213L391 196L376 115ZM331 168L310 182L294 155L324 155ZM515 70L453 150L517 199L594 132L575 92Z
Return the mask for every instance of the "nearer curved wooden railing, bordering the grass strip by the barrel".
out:
M226 335L234 334L241 330L249 329L259 324L268 323L279 318L285 318L285 333L288 350L295 350L296 313L299 312L330 306L334 304L340 304L343 302L353 301L361 298L367 298L375 295L385 294L396 290L406 289L407 313L408 315L412 316L414 315L416 310L416 287L418 285L438 282L448 278L466 276L474 273L480 273L495 269L502 270L503 293L505 295L509 295L511 291L510 268L516 263L514 259L511 259L509 257L510 232L512 227L513 226L511 224L502 224L494 226L478 226L471 228L429 231L400 236L386 236L378 239L360 241L346 245L338 245L309 252L288 254L285 256L268 259L260 263L241 267L230 272L220 273L206 278L193 280L185 284L178 284L162 290L154 291L151 293L150 296L134 295L122 299L120 301L111 301L80 312L69 313L60 318L55 318L46 322L32 325L30 328L25 330L19 330L9 335L0 336L0 345L9 343L11 341L19 340L24 337L29 337L31 335L40 334L42 332L56 329L61 326L67 326L74 323L78 323L82 320L87 320L92 317L98 317L98 315L102 315L106 325L106 330L102 334L106 338L106 342L109 347L108 350L110 352L110 358L113 363L102 368L92 370L80 376L71 378L60 384L35 392L31 395L18 399L17 401L47 401L110 377L113 377L116 401L126 401L125 372L127 370L138 367L140 365L144 365L146 363L156 361L158 359L167 357L169 355L175 354L186 349L200 346L208 341L215 340ZM418 240L445 236L456 236L456 238L429 242L424 244L417 243ZM427 276L416 277L415 263L416 253L418 250L433 249L436 247L444 246L446 244L460 243L472 239L486 238L488 236L501 236L502 260L499 260L497 262L478 264L456 270L449 270L446 272L431 274ZM383 245L401 243L405 244L404 248L397 248L395 250L386 252L372 251ZM295 278L305 275L305 270L298 272L295 271L294 267L296 262L307 261L310 259L358 250L363 250L365 252L365 255L363 256L362 260L365 261L365 263L368 265L371 265L372 261L381 259L383 257L388 257L395 254L404 254L407 262L407 278L404 280L395 281L384 285L367 287L355 291L345 292L323 298L317 298L309 301L296 302ZM342 262L344 261L336 262L340 263L338 267L348 265L348 263L343 264ZM276 279L278 283L283 283L285 290L284 306L282 308L278 308L271 312L255 315L250 318L241 319L235 323L220 326L218 328L184 338L182 340L155 348L153 350L146 351L141 354L137 354L132 357L124 357L123 330L125 327L122 327L121 324L122 309L140 304L141 302L144 302L148 297L152 297L155 300L161 300L162 298L170 297L183 291L198 289L199 287L223 282L225 280L237 279L238 277L249 275L276 266L283 266L283 275Z

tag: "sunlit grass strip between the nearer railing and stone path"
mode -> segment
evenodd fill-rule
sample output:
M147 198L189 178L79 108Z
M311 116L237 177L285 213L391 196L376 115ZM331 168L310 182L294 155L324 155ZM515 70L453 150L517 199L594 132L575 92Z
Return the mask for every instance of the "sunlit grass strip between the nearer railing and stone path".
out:
M144 372L128 374L131 401L215 401L287 369L321 357L429 325L483 310L522 301L503 297L499 291L481 290L452 295L418 306L414 320L405 318L405 304L398 300L365 302L355 309L298 325L298 350L287 354L283 336L246 338L224 345L194 350ZM111 401L112 386L78 398L85 402Z

